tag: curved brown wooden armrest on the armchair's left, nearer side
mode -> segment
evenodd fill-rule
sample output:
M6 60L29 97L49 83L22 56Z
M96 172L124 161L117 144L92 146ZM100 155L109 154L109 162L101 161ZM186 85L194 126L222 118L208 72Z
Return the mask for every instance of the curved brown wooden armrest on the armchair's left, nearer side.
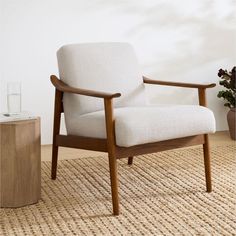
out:
M104 93L104 92L99 92L99 91L94 91L94 90L74 88L65 84L61 80L59 80L55 75L51 75L50 80L57 90L61 92L65 92L65 93L75 93L75 94L80 94L80 95L85 95L85 96L90 96L90 97L109 98L109 99L117 98L121 96L120 93L112 94L112 93Z

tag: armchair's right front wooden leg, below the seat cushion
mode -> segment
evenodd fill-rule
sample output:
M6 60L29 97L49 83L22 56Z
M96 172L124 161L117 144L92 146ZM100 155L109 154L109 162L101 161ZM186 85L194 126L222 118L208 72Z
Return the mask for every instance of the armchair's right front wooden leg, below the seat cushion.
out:
M212 191L211 185L211 163L210 163L210 147L209 147L209 138L208 134L204 135L205 143L203 144L204 152L204 165L205 165L205 177L206 177L206 189L207 192Z

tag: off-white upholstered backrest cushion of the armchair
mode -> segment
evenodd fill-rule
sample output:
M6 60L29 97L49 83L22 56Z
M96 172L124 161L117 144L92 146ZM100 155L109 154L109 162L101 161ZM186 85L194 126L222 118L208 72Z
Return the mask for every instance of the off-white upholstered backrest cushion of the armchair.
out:
M60 79L83 89L121 93L114 107L145 105L144 84L137 58L128 43L85 43L57 52ZM104 109L103 99L64 94L66 116L76 117Z

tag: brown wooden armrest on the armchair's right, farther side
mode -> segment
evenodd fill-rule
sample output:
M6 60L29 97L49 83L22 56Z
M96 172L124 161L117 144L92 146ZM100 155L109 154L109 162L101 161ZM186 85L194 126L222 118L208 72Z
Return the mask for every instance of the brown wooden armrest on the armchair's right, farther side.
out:
M191 83L152 80L152 79L148 79L144 76L143 76L143 82L145 84L159 84L159 85L165 85L165 86L175 86L175 87L183 87L183 88L198 88L198 89L213 88L216 86L216 84L191 84Z

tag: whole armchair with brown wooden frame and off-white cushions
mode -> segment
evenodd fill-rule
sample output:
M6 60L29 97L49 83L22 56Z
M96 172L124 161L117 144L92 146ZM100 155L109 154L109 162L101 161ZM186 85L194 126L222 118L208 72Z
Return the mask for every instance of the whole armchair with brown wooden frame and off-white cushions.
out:
M208 133L215 118L206 108L206 89L215 84L151 80L139 72L128 43L86 43L61 47L56 88L52 179L56 179L58 147L108 152L114 215L119 214L117 159L203 144L207 192L211 192ZM198 90L199 105L156 105L146 102L145 84ZM60 134L61 113L67 135Z

